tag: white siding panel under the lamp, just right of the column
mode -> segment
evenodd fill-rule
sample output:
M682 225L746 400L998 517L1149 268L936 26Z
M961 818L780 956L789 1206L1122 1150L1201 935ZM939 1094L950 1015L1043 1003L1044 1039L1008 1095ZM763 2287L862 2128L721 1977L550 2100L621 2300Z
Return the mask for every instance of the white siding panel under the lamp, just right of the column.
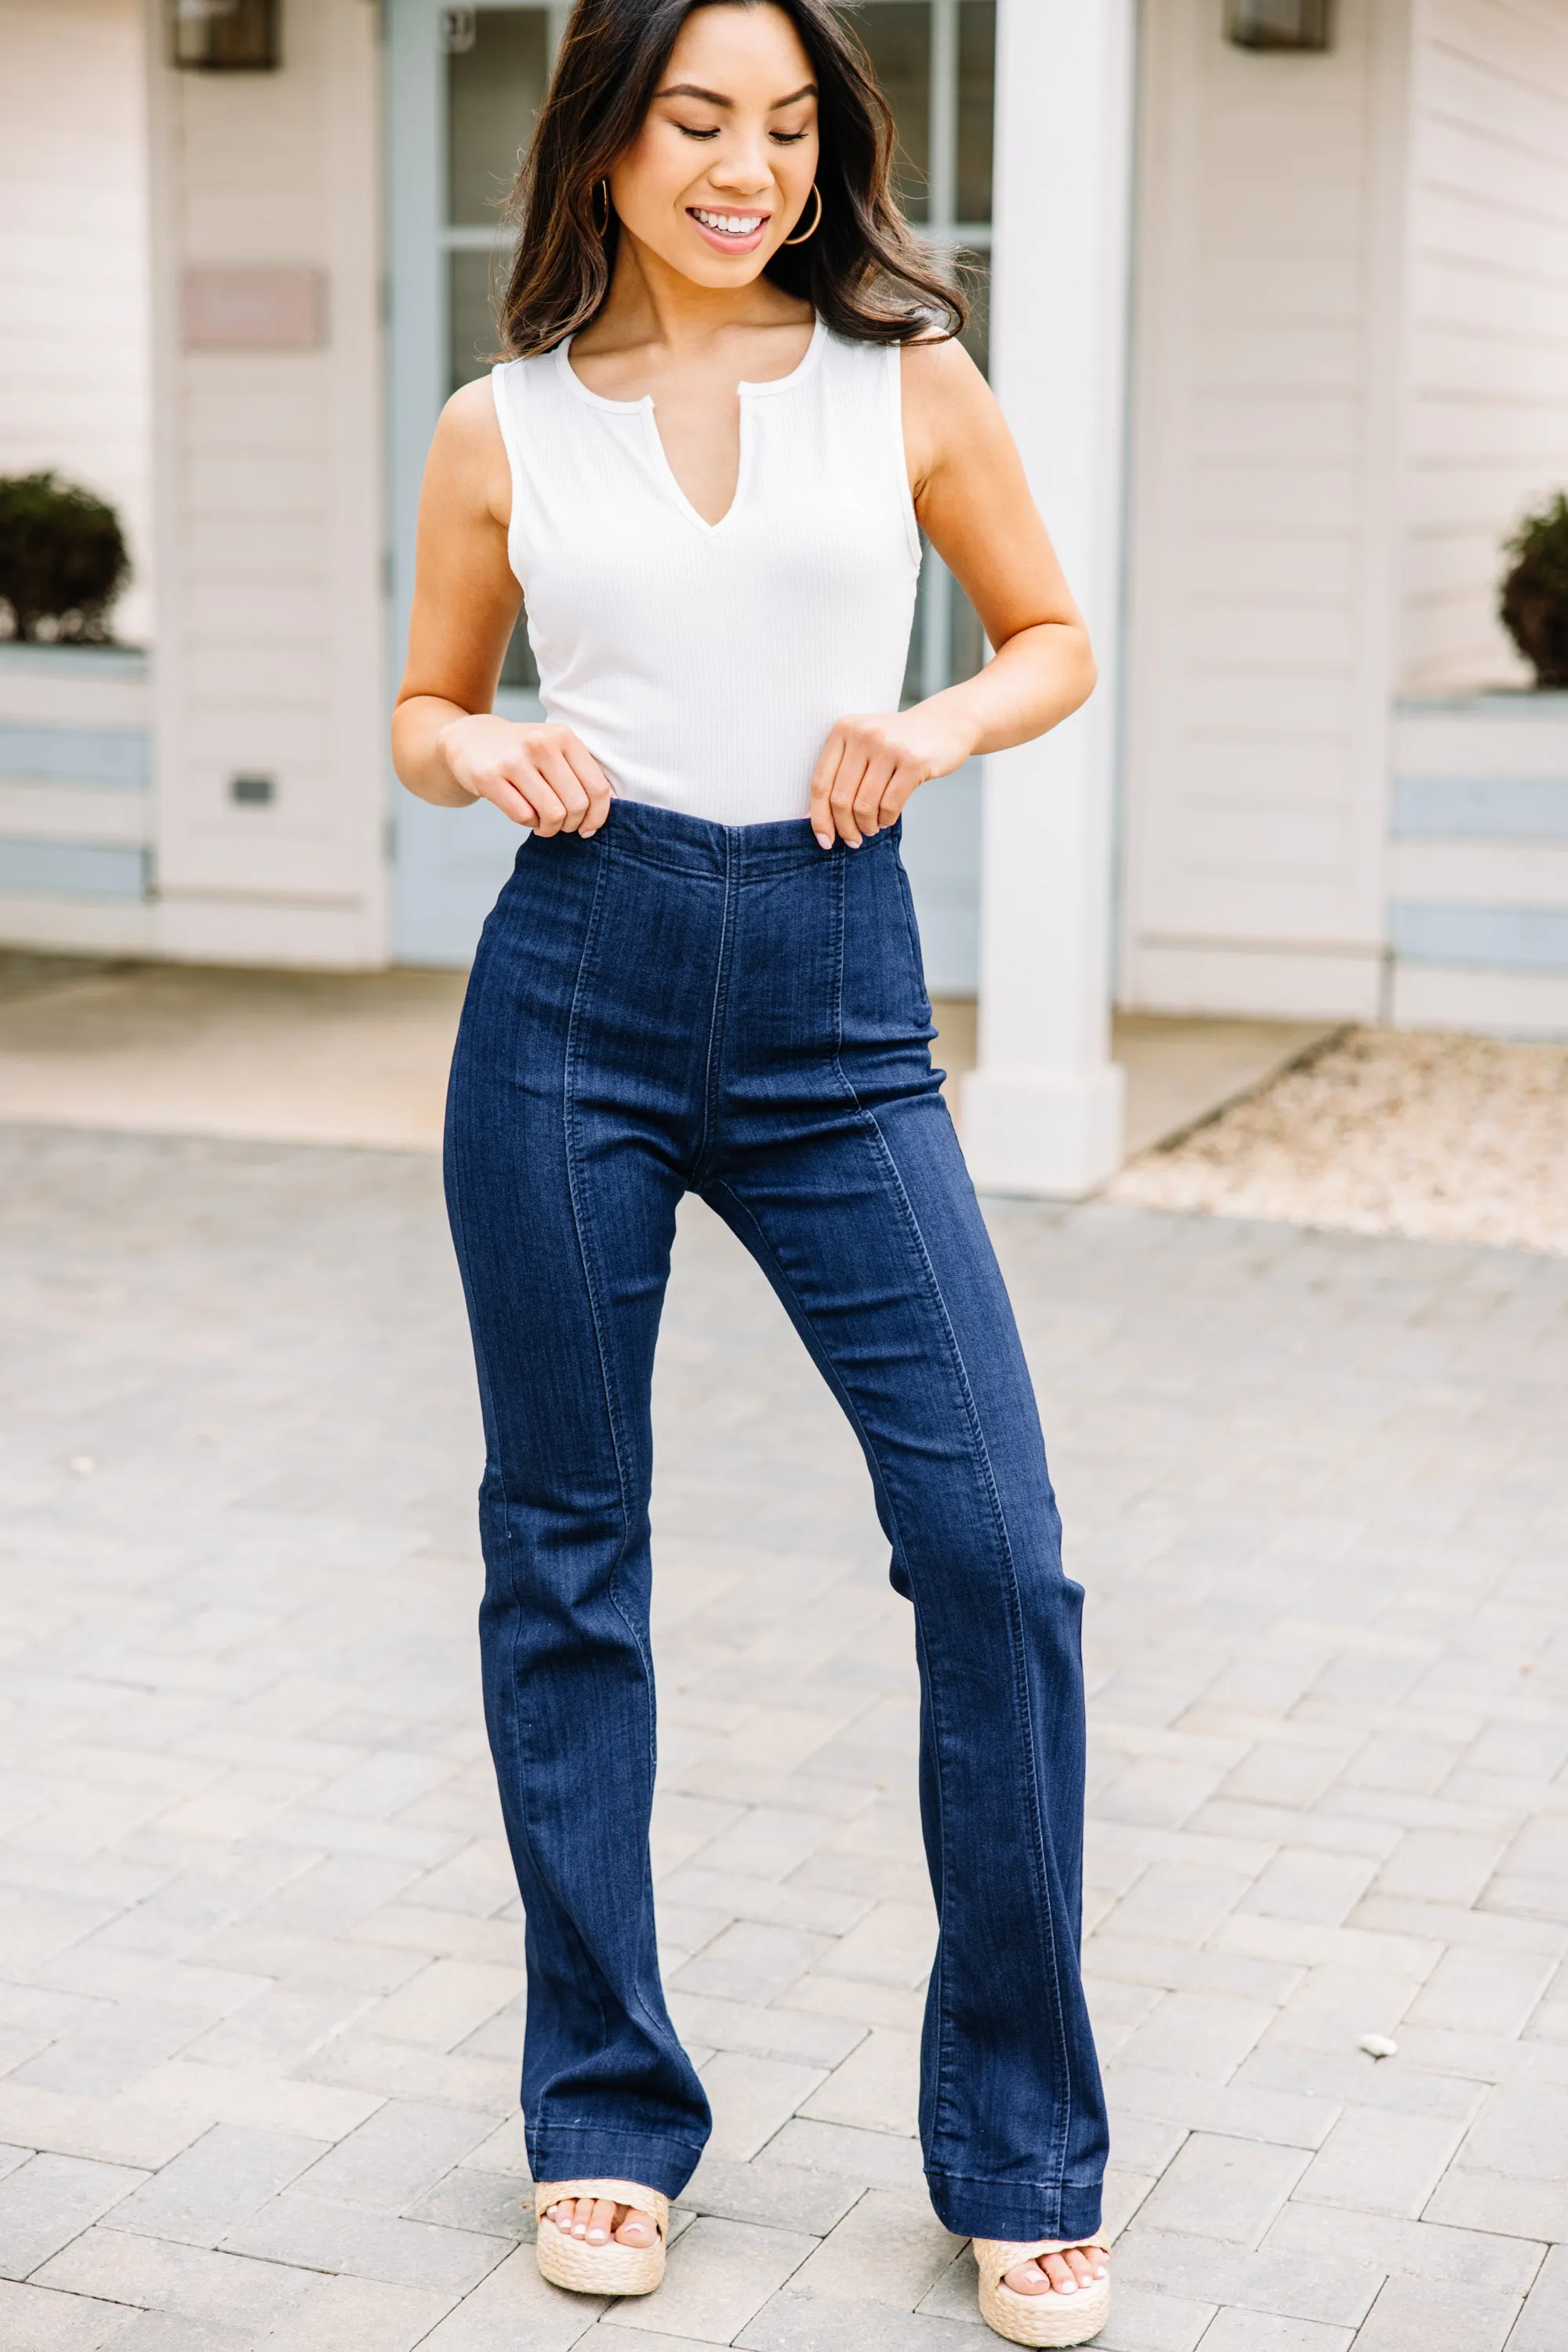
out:
M1326 56L1147 0L1124 974L1131 1004L1373 1011L1399 426L1399 0Z

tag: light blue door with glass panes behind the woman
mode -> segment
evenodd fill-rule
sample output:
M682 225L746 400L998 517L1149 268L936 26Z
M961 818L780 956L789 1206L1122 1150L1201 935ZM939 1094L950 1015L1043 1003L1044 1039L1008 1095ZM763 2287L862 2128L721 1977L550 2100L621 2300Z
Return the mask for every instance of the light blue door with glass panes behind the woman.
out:
M498 207L527 146L567 7L444 7L388 0L393 675L414 590L418 480L442 402L482 374L491 296L508 261ZM851 19L898 113L900 188L940 249L964 254L985 358L994 0L863 0ZM907 696L933 694L983 659L980 630L926 555ZM496 708L538 717L522 630ZM404 964L468 964L517 854L491 807L430 809L395 795L393 953ZM978 779L926 786L905 818L905 861L931 988L971 995L978 948Z

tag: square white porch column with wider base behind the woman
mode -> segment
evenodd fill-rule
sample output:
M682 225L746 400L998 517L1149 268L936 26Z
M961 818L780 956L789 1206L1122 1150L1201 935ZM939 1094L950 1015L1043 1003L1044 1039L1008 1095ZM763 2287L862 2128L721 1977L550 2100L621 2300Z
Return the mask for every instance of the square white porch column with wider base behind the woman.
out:
M980 1190L1074 1200L1121 1164L1110 1058L1135 0L997 12L992 381L1100 659L1039 743L985 762Z

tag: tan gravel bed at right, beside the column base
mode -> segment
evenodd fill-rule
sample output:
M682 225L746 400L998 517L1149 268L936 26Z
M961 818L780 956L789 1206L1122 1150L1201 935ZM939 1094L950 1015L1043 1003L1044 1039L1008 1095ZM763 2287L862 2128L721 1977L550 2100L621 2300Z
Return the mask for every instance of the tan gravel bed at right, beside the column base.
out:
M1568 1044L1345 1030L1110 1197L1568 1256Z

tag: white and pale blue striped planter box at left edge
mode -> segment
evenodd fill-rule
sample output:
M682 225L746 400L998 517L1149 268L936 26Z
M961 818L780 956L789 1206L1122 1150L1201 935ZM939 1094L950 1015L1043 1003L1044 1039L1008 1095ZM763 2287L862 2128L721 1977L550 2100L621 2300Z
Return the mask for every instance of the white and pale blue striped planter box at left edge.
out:
M148 668L118 644L0 644L0 946L150 946Z

